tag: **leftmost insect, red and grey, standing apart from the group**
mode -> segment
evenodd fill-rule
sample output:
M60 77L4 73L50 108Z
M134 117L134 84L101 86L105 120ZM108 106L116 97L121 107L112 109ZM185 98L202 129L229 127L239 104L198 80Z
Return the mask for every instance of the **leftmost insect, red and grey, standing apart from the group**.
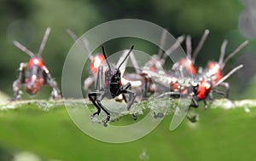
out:
M17 48L30 56L30 60L28 61L28 63L20 63L19 78L13 83L15 100L21 99L22 91L20 89L20 86L22 84L25 86L26 92L30 95L35 95L36 93L38 93L39 89L44 84L49 84L49 86L52 88L51 98L61 99L60 89L58 89L57 83L51 77L49 70L44 65L44 60L42 59L42 53L49 37L49 32L50 28L48 27L46 32L44 33L44 38L38 50L38 55L34 55L32 51L26 49L25 46L17 41L14 41L14 44Z

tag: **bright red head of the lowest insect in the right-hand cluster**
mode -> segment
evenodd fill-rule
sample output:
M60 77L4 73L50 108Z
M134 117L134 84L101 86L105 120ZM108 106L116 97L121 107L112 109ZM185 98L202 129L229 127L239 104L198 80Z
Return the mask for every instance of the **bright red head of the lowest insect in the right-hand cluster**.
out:
M197 89L197 97L199 100L203 100L207 97L208 92L212 89L210 81L202 80Z

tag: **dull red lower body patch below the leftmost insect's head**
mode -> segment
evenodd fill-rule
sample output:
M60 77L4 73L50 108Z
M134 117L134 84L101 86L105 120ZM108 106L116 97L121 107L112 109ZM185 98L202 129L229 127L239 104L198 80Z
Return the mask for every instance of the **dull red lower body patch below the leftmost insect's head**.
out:
M32 75L30 78L26 78L26 92L30 95L38 93L39 89L44 85L44 78Z

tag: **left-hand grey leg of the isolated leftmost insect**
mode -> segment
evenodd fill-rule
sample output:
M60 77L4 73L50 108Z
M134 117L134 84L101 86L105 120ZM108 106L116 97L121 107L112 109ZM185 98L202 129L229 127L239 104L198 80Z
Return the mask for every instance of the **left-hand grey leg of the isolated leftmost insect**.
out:
M15 98L14 100L20 100L22 91L20 90L21 84L25 83L25 70L26 70L26 63L20 63L19 68L19 77L13 83L13 90Z

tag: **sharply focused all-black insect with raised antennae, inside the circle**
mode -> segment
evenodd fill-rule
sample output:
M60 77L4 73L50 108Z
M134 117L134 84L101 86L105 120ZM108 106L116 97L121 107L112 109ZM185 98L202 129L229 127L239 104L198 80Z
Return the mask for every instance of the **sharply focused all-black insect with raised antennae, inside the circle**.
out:
M121 82L121 72L119 70L120 66L125 62L125 60L131 54L131 50L134 46L131 46L131 49L125 56L125 59L119 64L118 67L113 66L108 62L107 55L105 53L105 49L102 46L102 53L105 57L105 60L108 64L108 69L105 71L105 81L103 82L103 66L100 66L98 70L98 75L96 79L96 90L93 92L89 92L88 97L90 101L93 103L94 106L97 108L97 112L94 112L91 115L91 118L94 118L96 115L99 115L101 110L103 110L107 114L107 118L103 121L103 125L107 126L108 121L110 120L110 112L108 109L102 105L102 99L105 97L108 99L113 99L114 97L121 95L121 94L128 94L129 101L127 105L127 110L130 111L131 105L133 104L136 94L131 90L131 83L126 83L124 86ZM136 120L136 114L133 114L133 118Z

